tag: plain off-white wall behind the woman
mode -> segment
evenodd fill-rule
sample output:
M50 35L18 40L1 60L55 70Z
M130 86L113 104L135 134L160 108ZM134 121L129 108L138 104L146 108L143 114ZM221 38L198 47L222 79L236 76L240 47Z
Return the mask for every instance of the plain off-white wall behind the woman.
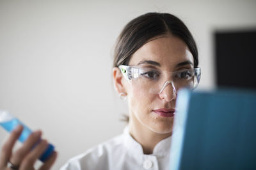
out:
M177 15L195 36L200 89L214 87L212 32L256 26L256 1L0 1L0 109L44 131L59 153L52 169L122 132L112 50L149 11ZM7 136L0 129L0 145Z

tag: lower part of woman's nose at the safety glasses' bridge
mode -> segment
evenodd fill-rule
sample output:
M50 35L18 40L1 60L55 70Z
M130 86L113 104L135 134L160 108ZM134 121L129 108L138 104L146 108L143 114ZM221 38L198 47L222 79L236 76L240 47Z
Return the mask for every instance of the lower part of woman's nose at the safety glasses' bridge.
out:
M160 99L169 102L173 99L176 99L177 90L175 89L175 86L172 81L166 81L158 94Z

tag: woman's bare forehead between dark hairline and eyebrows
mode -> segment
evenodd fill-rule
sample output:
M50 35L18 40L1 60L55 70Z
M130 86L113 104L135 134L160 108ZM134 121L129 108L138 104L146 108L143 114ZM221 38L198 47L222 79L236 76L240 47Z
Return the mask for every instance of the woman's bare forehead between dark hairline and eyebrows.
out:
M154 38L141 46L131 57L129 65L136 66L141 60L159 62L161 67L175 67L180 62L193 63L193 55L184 41L176 36Z

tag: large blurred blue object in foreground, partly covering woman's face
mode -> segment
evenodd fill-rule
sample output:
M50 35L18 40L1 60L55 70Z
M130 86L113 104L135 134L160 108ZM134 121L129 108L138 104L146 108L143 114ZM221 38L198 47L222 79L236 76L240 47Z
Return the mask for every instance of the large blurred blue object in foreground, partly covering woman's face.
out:
M180 90L170 169L256 169L256 92Z

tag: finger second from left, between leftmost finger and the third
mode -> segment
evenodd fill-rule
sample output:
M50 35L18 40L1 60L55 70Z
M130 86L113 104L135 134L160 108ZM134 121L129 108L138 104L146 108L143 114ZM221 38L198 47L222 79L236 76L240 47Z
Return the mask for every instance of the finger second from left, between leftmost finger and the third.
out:
M41 131L31 133L24 144L15 153L13 153L10 162L12 162L13 165L20 165L22 159L24 159L24 157L31 151L31 148L38 143L41 135Z

